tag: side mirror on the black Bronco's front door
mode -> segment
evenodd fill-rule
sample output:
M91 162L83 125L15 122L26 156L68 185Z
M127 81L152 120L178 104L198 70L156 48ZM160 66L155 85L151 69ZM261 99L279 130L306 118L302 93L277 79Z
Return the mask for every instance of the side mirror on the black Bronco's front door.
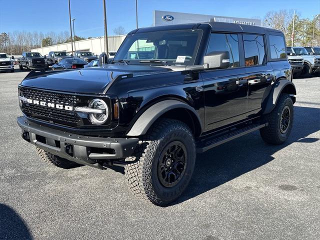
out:
M228 51L211 51L203 57L203 64L208 68L228 68L230 57Z

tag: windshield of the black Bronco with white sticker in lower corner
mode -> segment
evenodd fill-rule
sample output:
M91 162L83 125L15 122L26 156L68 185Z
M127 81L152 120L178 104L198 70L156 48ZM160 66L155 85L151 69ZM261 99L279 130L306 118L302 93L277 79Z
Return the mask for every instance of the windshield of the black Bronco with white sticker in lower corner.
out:
M192 29L128 35L113 61L124 59L129 60L130 64L163 61L169 65L192 65L201 35L202 30Z

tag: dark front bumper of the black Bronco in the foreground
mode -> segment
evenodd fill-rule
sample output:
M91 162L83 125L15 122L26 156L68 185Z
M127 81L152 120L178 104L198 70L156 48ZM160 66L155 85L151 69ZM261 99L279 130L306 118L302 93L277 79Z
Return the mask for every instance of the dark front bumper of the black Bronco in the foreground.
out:
M16 120L24 140L54 155L97 168L102 168L105 161L131 156L139 140L71 134L31 122L24 116Z

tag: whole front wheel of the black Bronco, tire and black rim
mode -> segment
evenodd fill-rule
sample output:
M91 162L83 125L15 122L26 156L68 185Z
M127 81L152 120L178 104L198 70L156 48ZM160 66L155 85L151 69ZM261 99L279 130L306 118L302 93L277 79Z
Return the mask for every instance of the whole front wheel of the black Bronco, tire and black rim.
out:
M178 120L159 119L139 147L134 163L125 165L130 189L153 204L169 204L192 176L196 154L190 128Z

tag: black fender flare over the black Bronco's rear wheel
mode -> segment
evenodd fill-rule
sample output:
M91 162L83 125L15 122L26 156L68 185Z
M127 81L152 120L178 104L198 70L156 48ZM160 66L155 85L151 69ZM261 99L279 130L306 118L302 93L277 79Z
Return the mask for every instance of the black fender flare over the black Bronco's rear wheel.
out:
M288 93L291 96L296 95L295 86L291 81L288 81L287 79L279 79L273 84L272 89L269 92L269 96L265 103L265 107L262 114L267 114L273 110L280 96L280 93L283 91L285 87L288 89L288 90L285 90L285 93ZM295 97L294 97L294 100L295 100Z

